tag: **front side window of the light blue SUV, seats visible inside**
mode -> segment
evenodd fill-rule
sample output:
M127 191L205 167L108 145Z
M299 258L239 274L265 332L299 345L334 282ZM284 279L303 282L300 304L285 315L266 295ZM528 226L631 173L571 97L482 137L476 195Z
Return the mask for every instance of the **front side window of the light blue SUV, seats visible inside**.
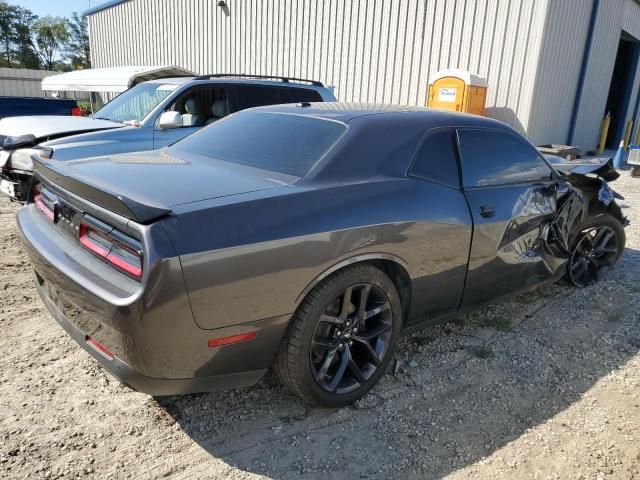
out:
M227 89L198 88L180 95L166 109L182 115L183 127L202 127L229 114Z

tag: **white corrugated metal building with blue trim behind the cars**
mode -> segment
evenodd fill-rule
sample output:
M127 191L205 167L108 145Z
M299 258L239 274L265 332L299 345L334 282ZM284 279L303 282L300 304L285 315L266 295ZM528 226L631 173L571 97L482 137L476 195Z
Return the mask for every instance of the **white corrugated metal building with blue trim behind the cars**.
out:
M638 0L112 0L88 14L95 67L302 77L410 105L459 68L487 79L487 115L583 150L606 111L609 145L638 116Z

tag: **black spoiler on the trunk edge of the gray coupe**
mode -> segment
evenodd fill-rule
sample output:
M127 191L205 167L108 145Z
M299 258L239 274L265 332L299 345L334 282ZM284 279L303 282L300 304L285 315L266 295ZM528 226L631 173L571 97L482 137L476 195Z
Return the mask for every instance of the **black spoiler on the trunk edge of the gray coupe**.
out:
M124 195L89 185L70 175L63 168L54 166L34 155L34 176L57 185L113 213L130 218L138 223L148 223L171 213L171 209L157 205L140 203Z

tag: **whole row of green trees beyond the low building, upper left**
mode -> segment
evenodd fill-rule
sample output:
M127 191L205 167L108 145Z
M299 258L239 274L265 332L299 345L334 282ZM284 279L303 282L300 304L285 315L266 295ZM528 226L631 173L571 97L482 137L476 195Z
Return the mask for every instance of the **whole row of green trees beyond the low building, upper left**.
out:
M0 0L0 67L69 71L90 68L87 19L38 17Z

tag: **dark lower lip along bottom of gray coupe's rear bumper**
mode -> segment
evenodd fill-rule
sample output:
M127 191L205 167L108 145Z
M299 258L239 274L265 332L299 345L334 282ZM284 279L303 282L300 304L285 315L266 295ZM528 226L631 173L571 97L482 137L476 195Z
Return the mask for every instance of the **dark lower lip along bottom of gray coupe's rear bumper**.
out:
M193 378L153 378L136 371L118 357L108 360L87 344L87 335L75 326L47 296L44 288L36 281L36 288L45 306L51 312L53 318L60 326L95 358L106 371L119 381L139 392L153 396L183 395L186 393L207 392L213 390L225 390L249 386L257 383L264 376L267 369L252 370L247 372L231 373L226 375L211 375Z

